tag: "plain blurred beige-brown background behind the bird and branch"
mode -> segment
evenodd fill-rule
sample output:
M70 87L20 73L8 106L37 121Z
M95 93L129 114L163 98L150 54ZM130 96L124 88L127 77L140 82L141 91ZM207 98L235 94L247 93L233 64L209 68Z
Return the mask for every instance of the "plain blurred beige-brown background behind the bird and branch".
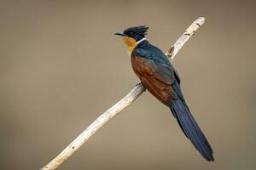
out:
M220 0L1 1L0 169L43 167L135 86L115 31L150 26L166 51L199 16L173 64L216 161L145 93L60 169L255 169L255 3Z

